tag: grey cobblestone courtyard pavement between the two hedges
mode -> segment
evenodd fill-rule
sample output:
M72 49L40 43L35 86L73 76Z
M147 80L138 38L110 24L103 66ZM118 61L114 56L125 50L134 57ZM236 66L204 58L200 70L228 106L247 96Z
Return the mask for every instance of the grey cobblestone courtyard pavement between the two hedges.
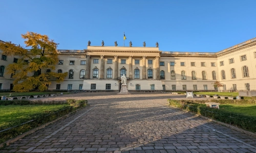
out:
M89 106L0 152L256 152L256 139L167 106L163 93L79 93Z

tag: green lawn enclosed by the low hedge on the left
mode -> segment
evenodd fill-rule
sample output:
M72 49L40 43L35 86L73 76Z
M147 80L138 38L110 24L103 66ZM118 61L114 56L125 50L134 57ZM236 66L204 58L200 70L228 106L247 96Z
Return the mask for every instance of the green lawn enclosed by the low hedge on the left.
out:
M32 120L36 118L39 113L49 114L50 112L66 108L68 106L68 104L0 106L0 130Z

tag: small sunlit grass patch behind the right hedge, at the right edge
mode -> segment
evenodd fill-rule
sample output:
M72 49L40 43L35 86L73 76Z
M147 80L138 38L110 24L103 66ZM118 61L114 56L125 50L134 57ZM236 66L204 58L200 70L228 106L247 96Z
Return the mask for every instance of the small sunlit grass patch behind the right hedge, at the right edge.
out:
M256 105L250 104L223 104L220 105L220 110L230 112L230 113L239 113L248 116L256 117Z

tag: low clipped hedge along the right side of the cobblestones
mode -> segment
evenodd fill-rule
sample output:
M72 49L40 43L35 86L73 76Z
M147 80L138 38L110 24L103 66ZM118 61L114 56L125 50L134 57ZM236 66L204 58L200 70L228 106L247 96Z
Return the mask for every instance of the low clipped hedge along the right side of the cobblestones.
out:
M196 114L215 119L224 123L231 124L233 126L237 126L241 129L248 130L251 132L256 132L256 117L247 116L238 113L230 113L225 112L219 109L212 109L206 107L204 103L207 102L218 102L221 104L228 104L226 101L228 99L223 100L174 100L168 99L169 105L174 106L183 110L187 110L189 112L194 112ZM204 105L202 105L204 104ZM230 104L230 103L229 103ZM231 103L234 104L234 103ZM246 101L242 101L242 104L248 104Z

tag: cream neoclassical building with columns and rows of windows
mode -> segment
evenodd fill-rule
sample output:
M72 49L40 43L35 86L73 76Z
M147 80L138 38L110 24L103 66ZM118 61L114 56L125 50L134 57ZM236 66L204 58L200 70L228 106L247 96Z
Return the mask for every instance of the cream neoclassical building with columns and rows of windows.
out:
M59 63L52 71L69 74L60 84L53 80L49 90L119 91L123 74L129 91L214 91L215 81L224 84L223 91L256 90L255 44L253 38L217 53L120 46L58 50ZM5 68L16 58L1 57L0 89L8 90L12 79Z

